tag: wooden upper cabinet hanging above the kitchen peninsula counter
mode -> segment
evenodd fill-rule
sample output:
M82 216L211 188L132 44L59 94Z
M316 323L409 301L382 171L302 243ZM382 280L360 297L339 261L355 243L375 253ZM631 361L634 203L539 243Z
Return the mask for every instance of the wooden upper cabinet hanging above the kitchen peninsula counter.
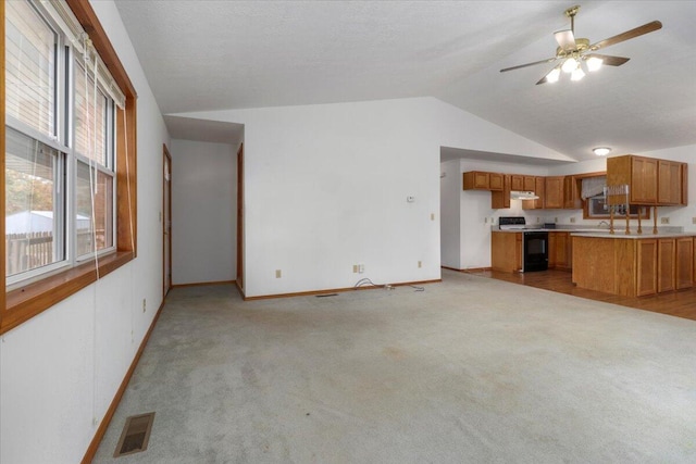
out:
M627 185L631 204L686 204L685 163L626 154L607 159L607 185Z

